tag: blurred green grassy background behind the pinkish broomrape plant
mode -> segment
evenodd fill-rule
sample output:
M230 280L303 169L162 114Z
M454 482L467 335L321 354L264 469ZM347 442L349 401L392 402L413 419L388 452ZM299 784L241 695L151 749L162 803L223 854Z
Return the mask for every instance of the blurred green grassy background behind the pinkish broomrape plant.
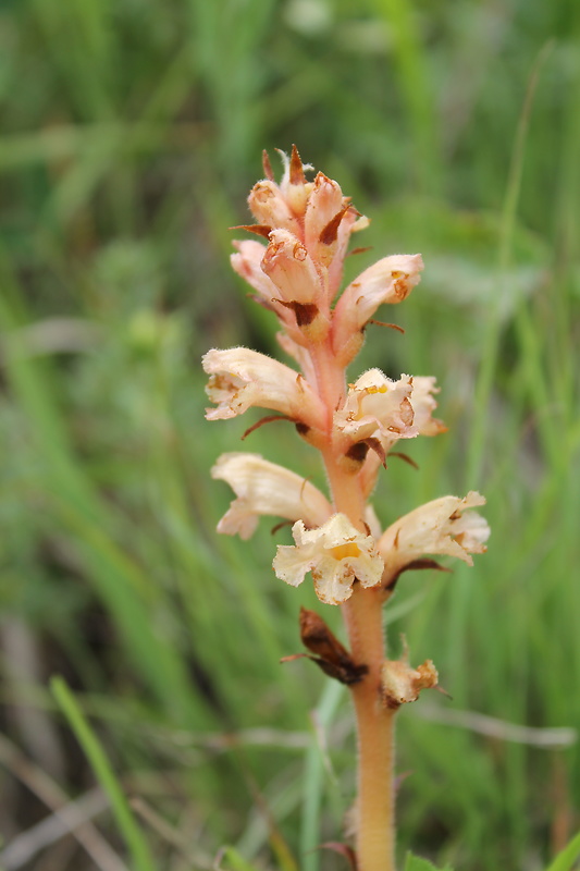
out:
M449 432L379 515L489 500L489 553L392 608L453 696L399 717L402 855L545 867L580 827L580 5L3 0L0 109L0 867L346 868L314 848L354 797L348 699L279 664L314 597L268 520L218 538L209 477L246 447L323 484L317 457L206 422L199 363L276 353L227 228L293 142L372 219L351 275L425 260L353 370L436 375Z

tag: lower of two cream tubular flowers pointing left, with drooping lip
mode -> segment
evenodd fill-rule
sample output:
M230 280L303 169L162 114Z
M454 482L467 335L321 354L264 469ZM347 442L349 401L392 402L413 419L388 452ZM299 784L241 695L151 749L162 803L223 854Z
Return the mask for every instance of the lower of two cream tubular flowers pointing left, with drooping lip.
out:
M306 526L321 526L332 505L313 484L293 471L269 463L260 454L222 454L211 477L230 484L237 499L218 524L218 532L250 538L259 515L303 519Z

